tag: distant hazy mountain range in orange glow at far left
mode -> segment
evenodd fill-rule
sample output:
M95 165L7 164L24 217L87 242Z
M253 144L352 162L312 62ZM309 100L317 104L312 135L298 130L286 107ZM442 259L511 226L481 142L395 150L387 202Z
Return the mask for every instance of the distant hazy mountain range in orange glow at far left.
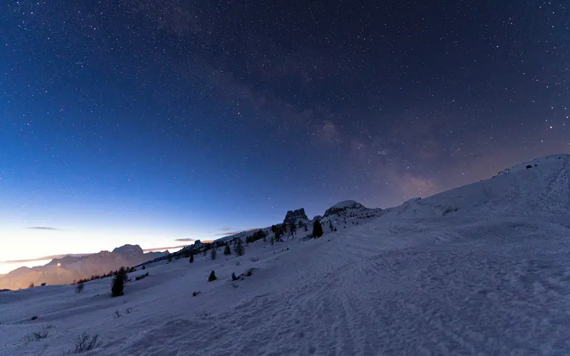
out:
M83 278L115 271L121 266L136 266L162 256L162 252L144 253L138 245L125 245L113 251L100 251L83 256L54 258L43 266L20 267L10 273L0 275L0 289L26 288L53 284L70 284Z

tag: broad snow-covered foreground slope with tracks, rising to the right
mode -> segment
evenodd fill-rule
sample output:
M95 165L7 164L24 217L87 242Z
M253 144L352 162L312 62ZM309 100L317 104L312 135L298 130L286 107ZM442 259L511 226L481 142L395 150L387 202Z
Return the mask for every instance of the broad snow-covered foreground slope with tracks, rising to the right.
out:
M84 355L564 355L570 157L556 157L321 239L161 261L119 298L109 279L2 292L0 355L61 355L83 331L103 340Z

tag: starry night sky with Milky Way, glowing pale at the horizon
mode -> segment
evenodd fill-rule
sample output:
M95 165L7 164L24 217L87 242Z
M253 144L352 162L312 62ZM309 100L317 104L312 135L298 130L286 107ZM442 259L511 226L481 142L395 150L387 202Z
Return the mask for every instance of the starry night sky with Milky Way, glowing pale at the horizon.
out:
M569 63L566 1L6 1L0 261L385 208L569 152Z

